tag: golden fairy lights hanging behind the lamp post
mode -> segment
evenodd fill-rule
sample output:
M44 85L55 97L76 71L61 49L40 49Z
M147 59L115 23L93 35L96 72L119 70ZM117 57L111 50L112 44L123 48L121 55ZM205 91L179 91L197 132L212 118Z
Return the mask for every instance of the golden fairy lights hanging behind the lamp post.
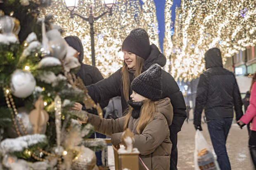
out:
M107 77L123 65L119 56L122 42L134 28L144 28L149 34L150 43L159 47L158 22L154 1L118 0L112 9L112 16L102 16L93 24L95 31L96 66ZM105 9L101 0L80 0L76 12L85 17L89 14L89 6L93 5L94 15L99 16ZM63 36L78 36L84 47L84 63L91 64L90 25L78 16L70 18L64 0L52 0L48 8L40 9L41 16L53 14L56 25L62 27Z

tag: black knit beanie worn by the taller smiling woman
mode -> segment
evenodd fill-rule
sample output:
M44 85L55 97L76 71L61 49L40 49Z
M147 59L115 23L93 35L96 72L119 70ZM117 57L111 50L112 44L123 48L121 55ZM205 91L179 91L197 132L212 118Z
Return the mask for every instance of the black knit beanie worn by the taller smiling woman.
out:
M136 54L145 60L150 54L149 36L143 28L136 28L123 40L122 51Z

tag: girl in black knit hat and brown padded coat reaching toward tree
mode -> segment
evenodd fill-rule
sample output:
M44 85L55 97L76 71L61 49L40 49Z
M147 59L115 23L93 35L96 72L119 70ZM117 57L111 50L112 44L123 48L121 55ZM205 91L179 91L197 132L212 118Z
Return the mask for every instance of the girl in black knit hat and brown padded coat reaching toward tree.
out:
M78 122L91 123L95 130L111 135L111 143L121 143L123 131L129 128L134 135L133 146L140 151L140 170L168 170L170 168L171 140L169 126L173 119L170 98L162 96L162 70L154 64L133 79L133 93L128 100L126 116L114 119L100 119L88 114L88 119Z

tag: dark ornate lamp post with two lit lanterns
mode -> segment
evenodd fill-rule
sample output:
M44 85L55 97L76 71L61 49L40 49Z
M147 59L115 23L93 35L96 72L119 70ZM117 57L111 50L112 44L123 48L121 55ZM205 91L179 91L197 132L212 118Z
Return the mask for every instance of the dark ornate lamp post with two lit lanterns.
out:
M70 17L73 18L74 15L81 17L83 20L88 21L90 23L90 37L91 37L91 47L92 47L92 65L95 66L95 48L94 48L94 30L93 30L93 23L97 21L97 19L101 18L103 15L109 12L109 15L112 15L112 8L115 5L116 0L102 0L102 5L108 8L108 11L103 12L101 15L95 17L93 16L92 10L93 6L90 5L90 15L88 18L77 14L74 12L74 9L77 7L79 0L65 0L66 8L70 11Z

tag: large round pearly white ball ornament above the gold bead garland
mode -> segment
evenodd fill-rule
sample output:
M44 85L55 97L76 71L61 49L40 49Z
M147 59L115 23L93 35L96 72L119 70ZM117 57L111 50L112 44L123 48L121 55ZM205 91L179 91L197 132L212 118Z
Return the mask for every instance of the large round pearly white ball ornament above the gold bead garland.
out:
M33 75L24 70L15 70L11 77L11 92L18 98L26 98L32 94L36 87Z

